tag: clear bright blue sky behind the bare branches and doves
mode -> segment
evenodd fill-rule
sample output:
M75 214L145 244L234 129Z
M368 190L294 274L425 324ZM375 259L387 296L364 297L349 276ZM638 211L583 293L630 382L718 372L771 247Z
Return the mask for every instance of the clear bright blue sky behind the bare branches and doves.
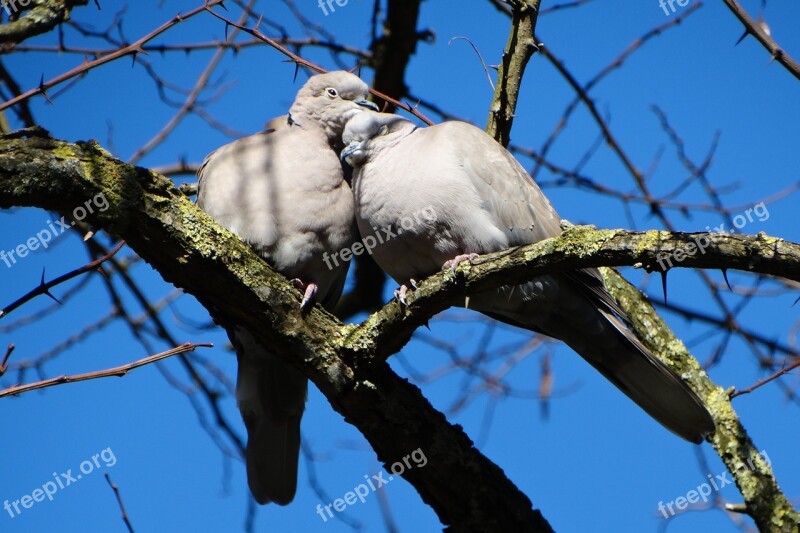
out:
M97 28L105 27L118 9L103 2L103 10L78 8L74 18ZM166 5L165 5L166 4ZM435 32L433 43L420 43L408 69L407 82L414 95L438 103L453 115L483 125L491 87L470 46L453 37L468 37L487 63L498 61L505 44L508 21L488 2L474 2L469 10L464 3L425 2L420 26ZM177 10L188 10L196 2L130 3L124 17L125 35L133 40L168 20ZM336 11L323 14L311 0L298 3L301 11L340 40L366 48L369 45L368 21L371 3L350 0ZM744 2L757 13L760 2ZM548 3L545 2L544 7ZM237 9L230 5L229 16ZM268 19L276 20L295 34L300 31L280 2L261 2ZM683 8L687 9L687 8ZM539 22L539 38L565 61L581 81L587 81L610 63L631 42L647 30L676 15L667 16L656 0L645 2L591 2L565 10ZM800 5L770 2L765 11L773 37L794 57L800 57ZM652 40L624 67L609 76L591 93L598 109L635 164L643 170L653 166L663 150L649 185L655 193L672 190L686 176L676 160L674 149L661 131L650 106L657 104L686 143L688 154L701 161L720 132L719 147L708 173L715 186L732 185L724 201L741 206L742 211L798 182L796 154L800 99L798 81L775 63L752 39L734 46L742 28L722 2L708 2L677 28ZM186 43L224 38L224 26L210 15L200 15L170 30L155 42ZM31 43L52 44L56 37L45 35ZM77 46L82 40L67 32L67 43ZM97 43L94 43L97 46ZM157 54L146 60L166 79L191 87L210 59L211 52ZM326 68L336 68L324 51L306 54ZM4 57L6 67L24 88L34 87L42 75L46 79L68 70L82 58L76 55L16 53ZM267 47L249 48L237 55L228 54L213 76L225 91L208 106L216 118L242 133L258 131L271 117L285 113L301 79L292 81L293 67ZM369 81L371 72L363 71ZM51 94L56 91L51 91ZM212 91L213 92L213 91ZM211 93L209 93L211 94ZM573 93L555 70L540 56L531 61L523 85L512 141L538 148L558 121ZM180 96L173 94L179 99ZM68 140L97 139L115 155L128 159L136 149L155 135L174 113L159 99L155 84L140 66L125 59L92 71L76 87L55 98L54 105L43 99L32 100L34 116L52 134ZM14 123L13 117L9 119ZM551 152L551 159L566 167L577 164L595 143L598 129L585 109L573 116L570 127ZM145 157L143 166L159 166L185 159L197 162L230 139L213 130L197 117L188 117L156 150ZM531 162L523 160L527 167ZM604 185L633 191L634 184L619 160L607 149L600 149L582 170ZM647 229L660 227L642 206L633 206L630 215L609 198L573 187L547 186L552 175L539 177L546 194L560 215L575 223L599 227ZM706 197L693 186L680 198L689 203L705 203ZM800 241L797 196L792 195L767 205L769 216L754 220L742 231ZM681 230L705 230L722 222L716 215L692 213L672 216ZM46 228L53 215L35 209L16 209L0 213L0 250L10 250ZM99 237L108 242L105 236ZM123 252L125 256L130 251ZM55 240L47 250L37 250L11 268L0 263L0 305L16 299L38 283L42 270L47 276L61 274L87 261L79 237L72 233ZM169 294L157 273L147 265L132 267L134 277L146 294L158 300ZM642 281L642 274L624 271L629 279ZM718 272L712 277L722 281ZM749 278L731 275L733 283L751 283ZM644 280L648 292L660 296L658 280ZM54 290L62 297L75 287L72 281ZM57 312L33 325L5 329L9 323L52 305L40 298L0 321L0 346L9 342L17 349L11 363L32 360L94 324L111 310L112 304L98 276L86 282L76 296L65 300ZM121 287L119 281L115 281ZM387 285L385 297L393 286ZM124 292L124 291L123 291ZM128 293L125 293L128 294ZM731 302L733 296L725 296ZM129 298L129 297L128 297ZM796 325L797 307L793 293L777 293L751 302L740 321L758 333L791 344L791 328ZM670 300L696 309L713 311L708 292L689 271L670 274ZM126 300L131 314L141 309ZM226 338L218 329L198 331L187 324L205 324L208 315L190 296L182 296L163 312L163 318L180 342L214 342L216 347L198 355L223 369L230 379L235 374L235 359L224 350ZM357 317L362 319L363 317ZM719 337L707 335L703 324L686 323L667 315L678 335L692 351L708 361ZM476 315L450 311L431 323L431 332L420 336L394 358L393 367L404 375L441 375L421 384L426 396L450 420L461 424L480 449L499 466L541 509L556 531L614 530L653 531L663 526L659 502L673 501L708 480L722 474L724 467L713 450L704 444L687 444L652 421L635 405L571 351L548 344L553 354L556 397L549 417L540 414L536 391L540 376L540 352L514 352L529 339L525 332L505 327L493 330L490 351L508 350L519 362L506 376L515 390L527 391L523 397L502 397L482 393L463 407L455 404L475 379L463 371L453 371L451 359L433 346L431 339L452 346L460 357L473 356L482 345L486 328ZM120 322L105 326L99 333L76 342L43 365L42 377L99 370L124 364L168 348L152 340L152 350L135 342ZM511 355L509 355L510 357ZM498 370L507 357L488 363ZM11 532L123 531L119 509L112 491L103 479L108 473L120 487L136 531L219 531L244 527L248 492L242 463L225 457L199 420L186 395L167 383L164 374L188 383L180 364L168 361L160 366L139 369L121 379L105 379L60 386L33 392L20 398L2 400L6 420L0 439L0 505L31 495L54 480L53 473L72 470L80 473L84 461L101 454L90 472L59 489L53 500L35 503L14 518L0 509L0 530ZM712 379L722 386L744 388L766 373L742 342L732 341L722 361L710 370ZM9 372L0 382L13 384L17 372ZM25 381L36 380L35 370L25 373ZM783 378L797 387L798 377ZM244 433L234 401L223 402L224 413L236 430ZM734 401L745 427L759 449L765 450L784 492L800 503L800 458L796 442L800 429L791 421L797 416L797 403L787 402L774 384ZM391 509L399 530L439 529L433 511L425 506L410 485L393 479L380 494L370 492L365 503L357 502L344 513L346 520L323 521L316 512L344 497L364 482L364 476L381 471L374 453L361 435L335 413L315 389L310 390L303 420L305 442L314 456L313 463L301 459L300 483L295 501L288 507L260 508L256 530L270 531L351 531L352 525L366 531L386 530L381 515L381 498ZM414 450L408 450L409 454ZM422 450L424 452L424 450ZM104 461L113 453L114 461ZM705 458L705 464L698 461ZM112 464L113 463L113 464ZM311 468L313 474L311 474ZM424 467L422 467L424 468ZM387 474L384 474L387 476ZM315 479L325 496L316 493ZM726 501L739 502L735 487L717 492ZM732 522L719 511L686 512L670 522L669 531L731 531Z

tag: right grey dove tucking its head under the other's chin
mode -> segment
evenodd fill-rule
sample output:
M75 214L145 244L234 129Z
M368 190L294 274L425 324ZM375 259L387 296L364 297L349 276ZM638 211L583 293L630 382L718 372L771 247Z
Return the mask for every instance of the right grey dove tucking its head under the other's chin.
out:
M384 235L394 236L372 254L401 291L443 265L561 233L558 214L525 169L475 126L417 127L366 111L347 123L343 141L359 231L365 238L390 228ZM564 341L684 439L699 444L714 432L697 395L628 329L595 269L472 294L469 307Z

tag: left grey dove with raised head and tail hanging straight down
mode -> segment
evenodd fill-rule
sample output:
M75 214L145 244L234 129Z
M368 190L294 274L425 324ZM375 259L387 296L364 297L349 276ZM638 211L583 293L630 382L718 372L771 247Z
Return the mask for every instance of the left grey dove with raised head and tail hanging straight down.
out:
M353 195L339 160L342 128L364 107L367 85L348 72L310 78L288 115L266 131L212 152L198 172L197 203L304 290L302 305L331 309L347 262L324 254L353 243ZM327 257L327 255L326 255ZM308 382L295 367L240 327L236 399L247 428L247 481L261 504L286 505L297 488L300 419Z

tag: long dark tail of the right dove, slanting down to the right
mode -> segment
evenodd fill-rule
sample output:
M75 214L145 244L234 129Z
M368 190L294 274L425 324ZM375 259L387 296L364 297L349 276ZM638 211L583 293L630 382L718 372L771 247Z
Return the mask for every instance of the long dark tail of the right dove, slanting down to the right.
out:
M714 432L697 395L628 329L592 271L542 276L479 296L470 307L564 341L673 433L700 444Z

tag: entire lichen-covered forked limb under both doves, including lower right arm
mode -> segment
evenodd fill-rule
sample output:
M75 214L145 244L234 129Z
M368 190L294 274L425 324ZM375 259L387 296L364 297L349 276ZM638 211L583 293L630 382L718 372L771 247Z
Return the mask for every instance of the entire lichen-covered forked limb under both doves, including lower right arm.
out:
M527 497L450 425L385 359L414 330L471 291L535 275L601 265L735 268L800 281L800 246L768 237L593 230L510 249L423 281L407 307L385 306L359 326L342 326L315 308L303 317L300 294L252 251L157 174L125 165L94 143L48 138L0 140L0 207L37 206L70 213L102 193L110 207L89 222L127 240L169 282L183 287L222 323L236 322L275 346L314 381L334 408L389 464L421 447L430 458L406 476L443 523L454 529L547 530ZM208 283L209 279L215 282ZM640 335L686 375L719 426L712 444L736 476L759 526L786 524L791 506L769 468L753 456L727 394L710 382L635 289L608 278ZM632 306L632 307L630 307ZM758 468L740 472L747 459ZM476 483L475 480L480 480Z

